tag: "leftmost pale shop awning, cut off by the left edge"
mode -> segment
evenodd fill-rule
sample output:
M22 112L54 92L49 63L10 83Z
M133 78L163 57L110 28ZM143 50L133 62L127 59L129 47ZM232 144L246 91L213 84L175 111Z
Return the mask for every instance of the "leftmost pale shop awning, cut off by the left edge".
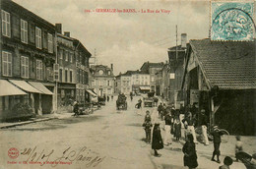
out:
M0 96L26 95L27 93L6 80L0 80Z

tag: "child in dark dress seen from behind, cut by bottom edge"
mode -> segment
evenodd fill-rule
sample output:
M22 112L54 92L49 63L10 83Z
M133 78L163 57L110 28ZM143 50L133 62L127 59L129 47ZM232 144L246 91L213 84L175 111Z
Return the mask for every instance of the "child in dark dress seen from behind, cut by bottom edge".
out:
M198 166L196 145L191 134L187 136L187 141L183 145L182 151L184 153L184 166L187 166L189 169L196 168Z

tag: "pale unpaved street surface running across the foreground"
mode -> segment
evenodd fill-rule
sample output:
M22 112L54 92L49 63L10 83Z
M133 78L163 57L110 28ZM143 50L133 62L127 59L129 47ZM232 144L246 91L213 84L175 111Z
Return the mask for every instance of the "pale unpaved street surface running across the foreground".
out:
M160 149L160 157L153 156L151 144L147 144L142 127L146 110L152 113L153 121L158 121L157 108L136 110L135 103L128 98L128 110L116 110L115 100L94 114L80 117L54 119L0 131L1 157L0 169L12 168L102 168L102 169L171 169L183 167L182 141L172 141ZM160 122L163 128L163 122ZM161 131L162 139L164 131ZM221 145L224 154L232 155L233 138ZM242 138L244 149L255 152L255 141ZM15 154L16 148L19 153ZM217 169L221 164L211 161L213 143L196 145L198 168ZM17 156L16 156L17 155ZM20 162L20 163L19 163ZM234 162L233 169L245 168Z

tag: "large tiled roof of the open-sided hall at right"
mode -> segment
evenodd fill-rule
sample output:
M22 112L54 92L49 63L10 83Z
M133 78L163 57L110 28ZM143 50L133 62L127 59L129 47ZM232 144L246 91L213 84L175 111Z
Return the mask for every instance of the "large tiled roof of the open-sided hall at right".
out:
M198 64L210 87L256 88L254 41L190 40Z

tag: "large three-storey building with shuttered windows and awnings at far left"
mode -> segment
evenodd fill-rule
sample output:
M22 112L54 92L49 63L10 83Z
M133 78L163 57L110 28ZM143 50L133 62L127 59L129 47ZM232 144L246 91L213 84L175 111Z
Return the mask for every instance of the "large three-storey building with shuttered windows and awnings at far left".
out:
M18 103L29 104L37 114L50 113L56 108L53 101L55 27L11 0L0 3L0 79L26 92L16 95L14 90L9 90L0 96L1 116L12 116L13 107Z

